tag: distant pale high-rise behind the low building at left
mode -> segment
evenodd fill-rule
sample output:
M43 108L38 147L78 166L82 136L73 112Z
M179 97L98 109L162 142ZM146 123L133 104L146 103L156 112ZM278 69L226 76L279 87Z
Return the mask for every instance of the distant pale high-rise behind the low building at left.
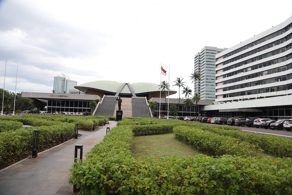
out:
M76 90L77 81L70 80L70 77L62 74L62 76L54 77L54 92L57 94L68 94L70 90Z

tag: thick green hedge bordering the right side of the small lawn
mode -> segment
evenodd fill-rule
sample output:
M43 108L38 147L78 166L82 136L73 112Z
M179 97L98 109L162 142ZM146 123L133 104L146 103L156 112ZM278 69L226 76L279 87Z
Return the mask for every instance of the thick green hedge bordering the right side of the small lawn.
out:
M237 156L262 156L262 149L253 144L240 142L238 139L218 135L213 132L200 130L188 126L176 126L173 128L175 138L187 142L193 148L202 153L222 156L224 154Z

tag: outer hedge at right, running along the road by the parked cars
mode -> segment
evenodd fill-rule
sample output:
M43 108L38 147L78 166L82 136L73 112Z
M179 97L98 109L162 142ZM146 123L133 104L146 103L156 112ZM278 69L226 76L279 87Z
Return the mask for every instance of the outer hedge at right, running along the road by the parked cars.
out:
M210 127L206 125L202 130L207 130L219 135L232 136L241 141L258 145L263 149L264 153L279 156L292 157L292 140L284 137L276 137L270 135L260 135L253 133L245 133L242 131L223 130L220 127Z

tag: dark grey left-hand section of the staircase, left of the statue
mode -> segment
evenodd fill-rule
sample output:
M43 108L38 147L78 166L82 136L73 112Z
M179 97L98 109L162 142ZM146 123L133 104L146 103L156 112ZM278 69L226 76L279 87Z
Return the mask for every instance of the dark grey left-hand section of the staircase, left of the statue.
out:
M113 115L115 106L117 104L117 96L105 96L102 100L102 103L98 105L98 108L95 112L95 116L116 116L116 113ZM123 104L122 104L123 106Z

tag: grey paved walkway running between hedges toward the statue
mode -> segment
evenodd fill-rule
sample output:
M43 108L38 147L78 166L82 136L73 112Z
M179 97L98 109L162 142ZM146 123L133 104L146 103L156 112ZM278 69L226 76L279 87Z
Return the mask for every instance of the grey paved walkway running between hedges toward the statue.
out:
M117 122L96 128L95 131L79 130L82 136L72 139L51 150L39 153L6 170L0 171L0 195L8 194L77 194L67 183L69 169L74 162L76 144L83 145L83 159L93 146L102 141L106 127L115 127ZM79 150L78 150L79 157Z

